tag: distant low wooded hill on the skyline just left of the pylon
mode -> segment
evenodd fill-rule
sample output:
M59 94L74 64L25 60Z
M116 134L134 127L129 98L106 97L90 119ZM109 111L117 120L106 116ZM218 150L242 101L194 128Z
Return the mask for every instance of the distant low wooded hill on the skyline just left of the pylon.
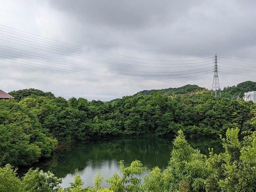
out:
M199 87L198 85L187 84L178 88L143 90L143 91L140 91L140 93L142 95L149 95L151 92L161 92L162 94L166 94L166 95L176 95L176 94L192 93L192 92L202 91L202 90L208 91L207 89L205 89L205 87ZM137 92L133 96L136 96L138 94L139 92Z

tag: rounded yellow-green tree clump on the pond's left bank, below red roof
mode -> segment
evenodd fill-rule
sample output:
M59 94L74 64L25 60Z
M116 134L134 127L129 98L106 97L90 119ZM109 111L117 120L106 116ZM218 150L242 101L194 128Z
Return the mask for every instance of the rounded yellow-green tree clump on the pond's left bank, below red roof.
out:
M34 163L41 156L49 157L57 146L24 102L0 100L0 166Z

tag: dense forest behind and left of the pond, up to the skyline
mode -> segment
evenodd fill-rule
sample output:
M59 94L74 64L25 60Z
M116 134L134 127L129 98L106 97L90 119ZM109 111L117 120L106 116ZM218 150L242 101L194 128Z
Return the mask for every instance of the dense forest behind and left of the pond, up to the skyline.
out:
M205 88L186 85L170 88L168 94L138 93L112 103L74 97L67 101L32 88L9 92L15 100L0 100L0 165L27 165L50 156L58 141L170 136L179 130L216 136L236 127L254 131L250 112L256 104L232 95L241 93L235 90L253 91L255 82L238 85L224 88L223 97L217 99Z

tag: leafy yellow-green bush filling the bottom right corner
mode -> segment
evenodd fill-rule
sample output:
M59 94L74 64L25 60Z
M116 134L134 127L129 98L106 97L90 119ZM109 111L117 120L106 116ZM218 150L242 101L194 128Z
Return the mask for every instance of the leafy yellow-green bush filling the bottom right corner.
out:
M228 129L223 138L225 153L210 152L208 166L211 176L205 180L207 191L255 191L256 190L256 132L238 140L239 129Z

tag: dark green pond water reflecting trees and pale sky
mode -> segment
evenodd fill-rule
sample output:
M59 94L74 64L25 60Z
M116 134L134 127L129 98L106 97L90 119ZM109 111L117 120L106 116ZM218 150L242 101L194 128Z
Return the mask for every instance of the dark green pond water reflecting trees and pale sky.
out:
M44 171L52 171L55 176L63 178L62 187L68 187L73 181L74 170L78 169L84 181L84 187L92 186L92 178L102 170L104 180L119 171L118 162L122 159L128 166L135 159L143 166L152 169L158 166L164 169L168 166L170 152L173 148L173 138L116 138L90 140L61 145L51 158L44 159L33 167ZM214 148L214 153L223 152L220 139L216 138L186 138L193 148L199 148L201 153L208 155L208 148ZM23 168L28 169L28 168ZM25 170L24 170L25 171ZM147 174L147 171L143 173ZM103 183L107 187L108 183Z

